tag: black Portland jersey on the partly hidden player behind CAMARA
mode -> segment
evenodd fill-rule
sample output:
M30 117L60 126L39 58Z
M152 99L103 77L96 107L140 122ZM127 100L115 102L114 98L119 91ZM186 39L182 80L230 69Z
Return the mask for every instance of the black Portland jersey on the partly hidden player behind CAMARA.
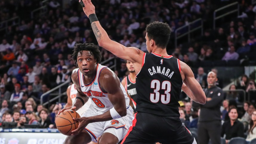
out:
M125 90L127 94L136 102L137 100L137 92L136 92L136 81L132 81L130 75L125 77L126 85Z

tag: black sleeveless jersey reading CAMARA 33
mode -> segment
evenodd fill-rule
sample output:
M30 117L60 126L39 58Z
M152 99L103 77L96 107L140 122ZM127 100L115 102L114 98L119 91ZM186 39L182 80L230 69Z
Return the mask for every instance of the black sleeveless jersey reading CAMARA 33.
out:
M136 79L136 111L160 116L180 116L178 101L183 84L180 71L177 58L145 53Z

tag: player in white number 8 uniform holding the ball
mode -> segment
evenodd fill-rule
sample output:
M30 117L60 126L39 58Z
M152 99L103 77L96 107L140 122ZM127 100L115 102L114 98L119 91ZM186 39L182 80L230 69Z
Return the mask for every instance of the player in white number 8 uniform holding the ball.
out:
M99 136L99 144L120 142L127 134L133 118L129 97L120 80L111 69L99 64L101 52L94 44L76 44L72 59L78 65L71 75L77 94L72 107L66 109L76 111L89 98L92 104L81 118L73 118L79 125L71 136L67 136L64 144L89 143L97 141Z

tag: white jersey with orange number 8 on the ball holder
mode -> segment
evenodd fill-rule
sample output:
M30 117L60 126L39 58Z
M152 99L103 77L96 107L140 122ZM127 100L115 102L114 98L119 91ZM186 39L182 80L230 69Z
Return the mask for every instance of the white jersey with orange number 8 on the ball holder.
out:
M101 64L97 65L96 75L92 80L92 82L89 84L84 84L84 75L79 71L79 69L77 71L79 85L82 92L85 95L87 95L87 97L90 97L92 99L91 106L93 106L93 108L95 108L97 111L103 112L103 113L109 111L111 108L114 107L108 98L108 94L103 92L100 88L99 76L101 74L101 71L104 68L107 68L107 66L102 66ZM130 99L129 97L127 97L124 86L121 83L120 83L120 87L124 93L126 108L128 108Z

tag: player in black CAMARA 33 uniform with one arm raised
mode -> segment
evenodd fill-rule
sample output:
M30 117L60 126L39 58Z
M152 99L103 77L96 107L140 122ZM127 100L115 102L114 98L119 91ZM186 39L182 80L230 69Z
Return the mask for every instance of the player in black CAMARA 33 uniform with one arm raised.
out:
M194 137L182 126L179 118L179 95L182 89L201 104L206 103L206 96L189 66L167 54L171 34L169 25L162 22L147 25L145 38L149 53L144 53L138 48L112 41L101 27L91 1L81 2L98 44L119 58L131 61L137 74L138 113L122 143L195 144Z

